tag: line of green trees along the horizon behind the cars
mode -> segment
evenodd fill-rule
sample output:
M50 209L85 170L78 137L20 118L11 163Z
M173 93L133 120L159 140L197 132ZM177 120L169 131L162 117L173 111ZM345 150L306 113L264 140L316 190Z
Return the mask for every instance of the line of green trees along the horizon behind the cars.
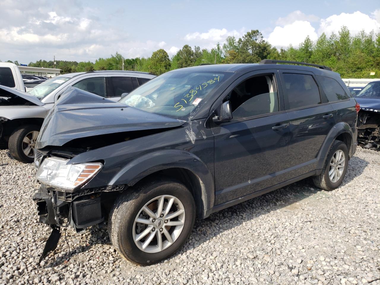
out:
M197 66L202 63L258 63L263 59L291 60L326 65L340 73L342 78L380 77L380 33L365 33L353 36L347 27L338 34L320 35L314 43L309 36L299 47L288 46L278 50L258 30L251 30L241 38L228 36L225 43L219 43L210 50L192 48L186 44L173 57L169 58L164 49L158 49L150 57L124 59L124 70L145 71L160 75L169 70ZM10 61L9 61L10 62ZM121 70L123 56L116 52L108 58L95 62L76 62L56 60L56 68L62 73ZM15 63L18 63L17 61ZM30 62L32 67L53 67L53 61L38 60ZM372 74L372 75L371 75Z

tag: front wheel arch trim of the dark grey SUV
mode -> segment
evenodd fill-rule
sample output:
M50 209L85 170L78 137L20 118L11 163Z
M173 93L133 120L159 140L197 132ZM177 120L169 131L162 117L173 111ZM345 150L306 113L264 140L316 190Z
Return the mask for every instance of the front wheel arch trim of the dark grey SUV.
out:
M121 168L110 181L110 185L133 186L144 177L168 168L183 168L191 171L199 179L201 185L201 193L196 193L200 197L196 198L201 198L204 213L214 206L215 186L211 171L196 155L184 150L157 150L142 155Z

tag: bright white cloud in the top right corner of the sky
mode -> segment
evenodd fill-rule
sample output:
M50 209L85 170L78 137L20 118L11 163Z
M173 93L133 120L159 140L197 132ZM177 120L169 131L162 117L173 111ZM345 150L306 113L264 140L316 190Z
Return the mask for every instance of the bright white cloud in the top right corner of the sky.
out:
M375 11L376 16L379 17L379 10ZM371 19L367 14L359 11L355 13L341 13L339 15L332 15L326 19L321 19L318 33L338 33L342 26L346 26L350 30L351 35L356 35L361 30L366 33L374 30L375 33L380 31L380 22L376 19Z

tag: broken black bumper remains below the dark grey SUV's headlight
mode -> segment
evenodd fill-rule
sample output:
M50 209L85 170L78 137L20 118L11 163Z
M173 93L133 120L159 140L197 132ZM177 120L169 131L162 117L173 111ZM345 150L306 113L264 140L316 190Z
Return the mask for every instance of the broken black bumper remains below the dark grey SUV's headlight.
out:
M103 222L100 195L84 195L73 201L61 199L54 188L41 184L33 196L40 223L48 225L70 225L76 231Z

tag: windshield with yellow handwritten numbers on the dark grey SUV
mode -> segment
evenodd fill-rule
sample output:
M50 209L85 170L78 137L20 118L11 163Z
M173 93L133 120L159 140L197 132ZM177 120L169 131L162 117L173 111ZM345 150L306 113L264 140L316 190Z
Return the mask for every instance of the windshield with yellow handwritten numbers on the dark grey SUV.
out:
M143 111L188 119L207 95L230 73L172 71L164 73L131 91L119 102Z

